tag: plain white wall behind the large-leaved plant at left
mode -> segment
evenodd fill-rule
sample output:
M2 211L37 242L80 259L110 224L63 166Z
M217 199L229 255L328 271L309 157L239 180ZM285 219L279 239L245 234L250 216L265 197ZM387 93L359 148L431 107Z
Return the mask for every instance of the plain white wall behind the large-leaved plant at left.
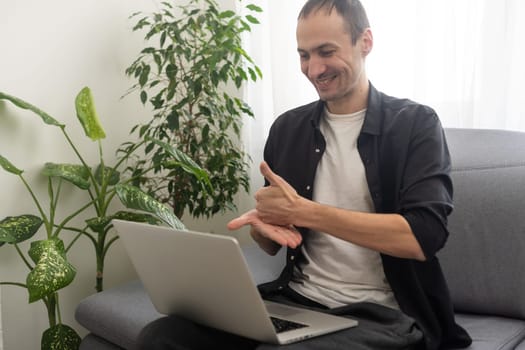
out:
M79 147L98 159L95 145L77 128L74 97L83 86L91 87L98 114L109 135L104 141L108 162L128 139L129 129L148 111L135 96L121 99L132 81L125 68L143 47L142 34L131 31L130 14L148 11L157 0L19 0L0 2L0 91L23 98L56 119L65 122ZM231 6L233 0L228 0ZM32 181L46 161L75 161L59 136L58 129L44 125L31 113L9 103L0 103L0 154L26 170ZM0 171L2 200L0 219L34 212L28 194L17 177ZM45 186L39 187L45 195ZM251 199L241 196L245 204ZM75 196L69 199L75 205ZM224 232L227 217L186 223L194 229ZM244 232L239 235L245 234ZM22 249L27 251L27 246ZM69 258L77 267L77 278L60 293L63 322L81 335L85 330L73 317L78 301L94 292L95 262L92 246L80 240ZM0 248L0 280L25 282L27 270L11 246ZM117 242L106 259L106 288L136 278L121 245ZM41 302L28 305L25 289L3 286L0 349L38 349L40 335L48 327ZM1 323L1 322L0 322Z

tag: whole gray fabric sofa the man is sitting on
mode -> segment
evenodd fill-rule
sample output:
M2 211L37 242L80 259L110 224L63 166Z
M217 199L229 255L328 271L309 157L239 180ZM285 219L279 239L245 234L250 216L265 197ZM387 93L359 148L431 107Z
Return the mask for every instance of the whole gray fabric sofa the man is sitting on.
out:
M447 129L455 209L439 253L469 349L525 350L525 133ZM255 280L277 276L283 254L244 249ZM283 250L284 251L284 250ZM90 332L81 349L133 349L160 315L139 281L89 296L76 319Z

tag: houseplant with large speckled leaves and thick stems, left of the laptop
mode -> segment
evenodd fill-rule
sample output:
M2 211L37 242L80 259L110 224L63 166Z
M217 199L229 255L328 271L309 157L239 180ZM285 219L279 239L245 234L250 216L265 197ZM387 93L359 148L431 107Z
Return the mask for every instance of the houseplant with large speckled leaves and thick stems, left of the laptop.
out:
M138 188L130 186L132 178L121 176L119 167L136 149L132 148L127 154L121 154L115 166L106 165L101 144L101 140L105 138L105 132L98 121L93 97L88 88L79 92L75 100L75 107L77 117L86 135L98 144L99 163L93 167L86 163L85 158L67 133L64 124L30 103L0 92L0 101L2 100L30 110L44 123L58 127L80 162L79 164L45 164L42 171L48 184L47 206L45 206L44 201L36 195L34 186L24 177L24 171L0 154L0 167L18 176L36 207L36 215L8 216L0 221L0 247L13 246L29 271L25 283L2 281L0 284L26 288L30 303L42 301L45 304L49 328L42 334L42 349L77 349L80 337L74 329L62 323L58 294L58 291L68 286L75 277L76 269L68 261L67 253L77 239L81 236L87 237L94 246L97 264L96 290L100 291L103 288L104 258L108 249L118 238L108 236L112 228L112 219L150 223L163 221L179 228L184 228L184 225L173 215L171 208L157 202ZM149 141L157 142L160 147L165 148L166 152L171 153L171 158L166 158L170 166L181 167L192 176L196 176L202 183L202 189L209 187L206 173L185 154L160 141ZM137 147L140 147L140 144L137 144ZM149 169L144 170L149 171ZM66 186L71 185L84 191L85 202L80 203L74 209L62 208L60 195L66 190ZM131 210L112 212L110 204L117 197L126 208ZM79 215L85 219L85 225L82 227L72 224L73 219ZM45 232L45 238L36 239L35 235L41 228ZM62 239L66 232L69 233L67 245ZM25 241L30 241L27 254L19 246Z

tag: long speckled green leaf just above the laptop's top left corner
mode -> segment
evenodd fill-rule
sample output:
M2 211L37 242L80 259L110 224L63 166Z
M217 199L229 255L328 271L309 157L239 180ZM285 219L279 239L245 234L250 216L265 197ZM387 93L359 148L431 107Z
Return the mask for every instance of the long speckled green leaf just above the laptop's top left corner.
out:
M158 202L153 197L148 196L137 187L120 184L115 186L115 189L117 190L120 201L126 208L145 211L157 216L173 228L179 230L186 229L179 218L173 214L171 208Z

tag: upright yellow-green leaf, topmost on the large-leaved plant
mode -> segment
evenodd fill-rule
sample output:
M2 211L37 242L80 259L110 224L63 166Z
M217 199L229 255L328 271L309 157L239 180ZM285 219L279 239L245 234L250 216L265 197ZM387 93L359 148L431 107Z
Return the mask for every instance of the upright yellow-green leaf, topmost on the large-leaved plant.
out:
M87 137L93 141L106 137L106 133L98 120L93 95L88 87L83 88L78 93L75 99L75 108L77 110L78 120L80 124L82 124Z

